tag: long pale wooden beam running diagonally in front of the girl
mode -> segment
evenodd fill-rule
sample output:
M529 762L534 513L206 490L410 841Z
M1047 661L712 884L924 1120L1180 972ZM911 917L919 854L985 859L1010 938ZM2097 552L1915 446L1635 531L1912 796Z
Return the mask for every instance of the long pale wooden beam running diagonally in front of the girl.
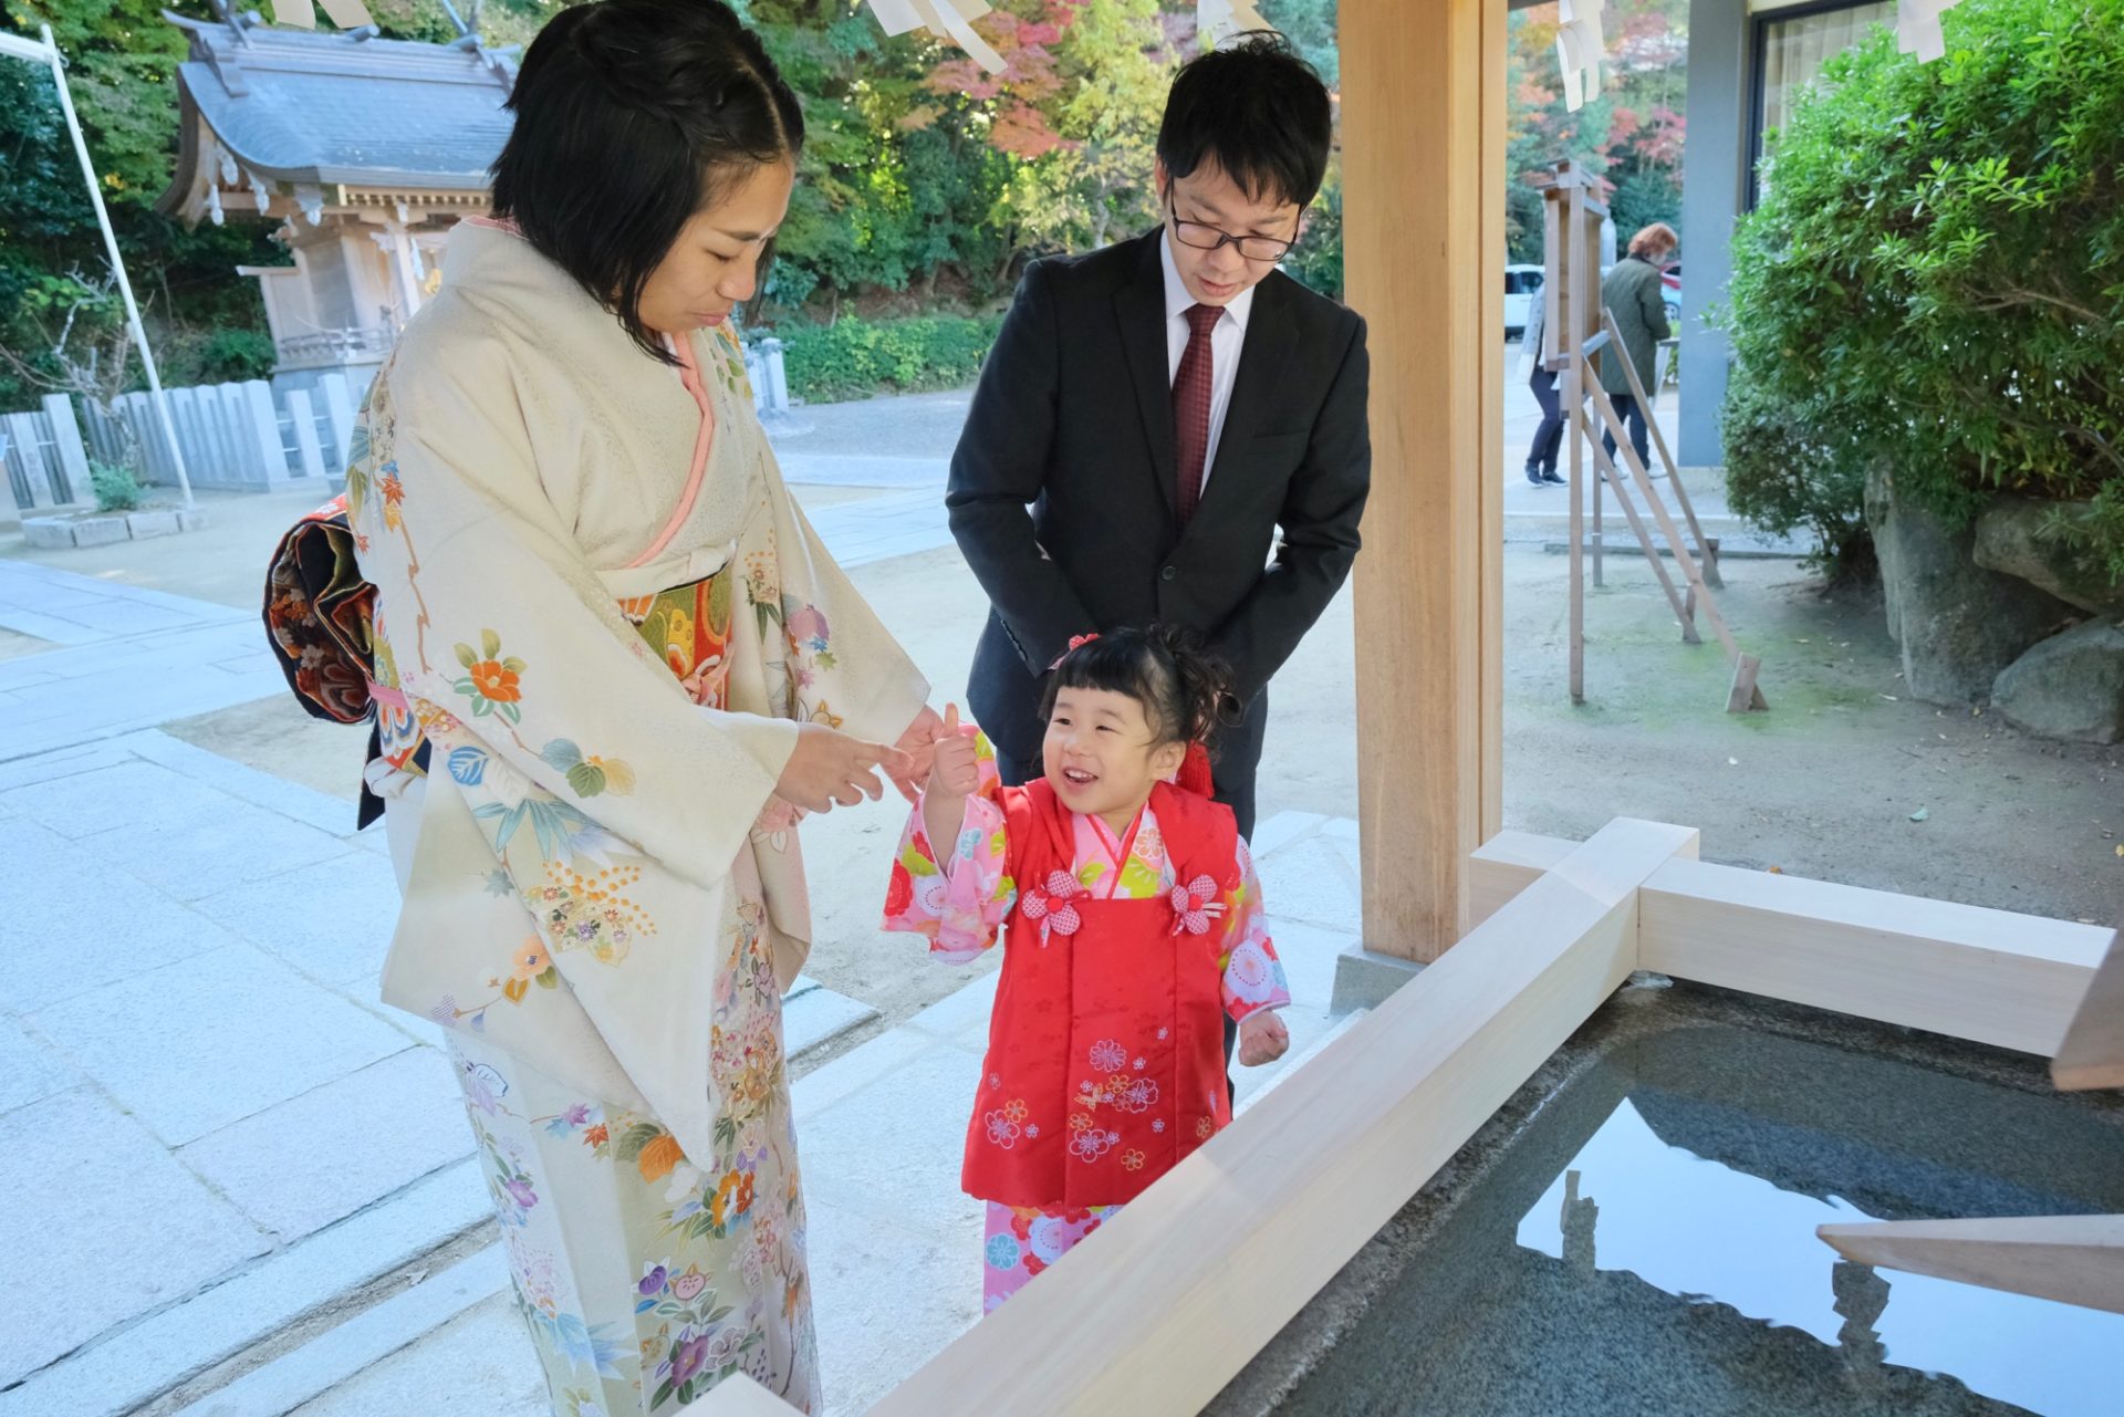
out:
M873 1417L1200 1411L1629 977L1638 884L1693 850L1610 822Z

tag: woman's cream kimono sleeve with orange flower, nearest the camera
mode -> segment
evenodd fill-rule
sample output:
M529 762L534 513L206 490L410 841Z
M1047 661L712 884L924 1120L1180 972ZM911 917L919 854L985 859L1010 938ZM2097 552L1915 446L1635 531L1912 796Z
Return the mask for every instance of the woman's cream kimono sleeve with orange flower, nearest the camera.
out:
M499 778L484 786L501 799L535 784L556 829L595 822L714 886L796 724L695 705L546 497L508 357L478 340L448 359L423 353L401 346L376 378L348 510L378 593L380 659L478 739L435 767L467 786Z

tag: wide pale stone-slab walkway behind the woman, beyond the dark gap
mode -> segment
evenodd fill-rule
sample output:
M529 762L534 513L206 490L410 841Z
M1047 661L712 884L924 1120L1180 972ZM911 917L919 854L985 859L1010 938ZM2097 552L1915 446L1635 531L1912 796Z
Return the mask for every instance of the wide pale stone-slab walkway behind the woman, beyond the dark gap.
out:
M0 1417L125 1413L491 1211L380 833L149 727L287 693L257 616L0 561Z

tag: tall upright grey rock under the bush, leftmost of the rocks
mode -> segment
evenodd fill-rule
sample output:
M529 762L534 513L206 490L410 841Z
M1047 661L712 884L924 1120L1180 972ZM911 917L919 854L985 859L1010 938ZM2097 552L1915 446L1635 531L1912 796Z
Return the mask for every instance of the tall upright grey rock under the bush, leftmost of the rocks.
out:
M2018 576L1975 563L1975 533L1895 497L1871 472L1865 518L1880 554L1888 635L1903 650L1903 684L1926 703L1967 705L2041 639L2082 618L2075 605Z

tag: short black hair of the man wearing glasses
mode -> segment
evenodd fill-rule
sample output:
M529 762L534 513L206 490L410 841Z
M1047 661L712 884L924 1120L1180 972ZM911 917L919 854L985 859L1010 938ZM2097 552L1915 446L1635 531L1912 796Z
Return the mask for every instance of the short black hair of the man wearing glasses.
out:
M1158 157L1179 181L1215 161L1249 200L1308 206L1328 176L1334 108L1291 42L1255 30L1179 72L1158 125Z

